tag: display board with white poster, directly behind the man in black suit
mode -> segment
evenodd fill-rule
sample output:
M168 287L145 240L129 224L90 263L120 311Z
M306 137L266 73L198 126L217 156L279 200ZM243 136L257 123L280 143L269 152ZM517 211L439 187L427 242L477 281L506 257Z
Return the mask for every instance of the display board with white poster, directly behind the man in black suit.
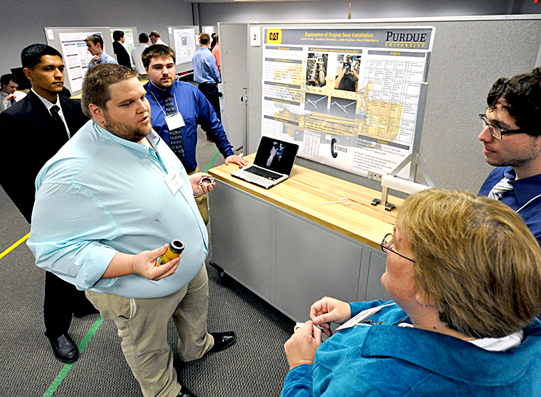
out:
M93 56L87 50L85 39L97 33L103 37L105 53L114 57L110 28L45 28L45 37L49 46L62 54L65 64L64 85L71 94L79 94L83 85L88 64Z

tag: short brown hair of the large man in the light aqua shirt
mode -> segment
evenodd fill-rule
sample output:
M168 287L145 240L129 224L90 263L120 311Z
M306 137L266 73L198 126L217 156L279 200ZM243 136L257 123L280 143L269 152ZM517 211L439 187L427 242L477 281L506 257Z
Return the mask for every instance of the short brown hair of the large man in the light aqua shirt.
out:
M107 103L111 100L110 85L130 78L137 78L137 72L118 64L97 64L92 67L83 80L83 94L80 99L83 113L92 117L88 109L91 103L107 110Z

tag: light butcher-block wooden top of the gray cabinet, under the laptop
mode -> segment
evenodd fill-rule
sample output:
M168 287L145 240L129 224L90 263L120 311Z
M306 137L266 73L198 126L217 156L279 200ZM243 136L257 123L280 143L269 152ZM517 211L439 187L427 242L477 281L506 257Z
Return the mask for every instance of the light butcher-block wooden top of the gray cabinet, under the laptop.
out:
M246 156L249 164L255 155ZM215 179L241 191L255 195L313 222L323 225L354 240L379 249L386 233L393 232L396 210L385 211L381 205L370 202L381 198L381 191L353 184L330 175L295 165L291 177L270 189L261 188L231 176L237 164L221 165L209 170ZM212 194L212 193L211 193ZM321 204L347 197L351 205ZM400 206L404 200L389 196L388 200Z

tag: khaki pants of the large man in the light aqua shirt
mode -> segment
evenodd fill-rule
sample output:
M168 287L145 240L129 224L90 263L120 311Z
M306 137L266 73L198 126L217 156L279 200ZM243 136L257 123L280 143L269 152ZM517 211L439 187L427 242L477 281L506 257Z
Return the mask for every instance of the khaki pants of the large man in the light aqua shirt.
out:
M190 283L169 297L130 299L87 291L101 317L118 328L122 352L141 386L144 397L173 397L180 391L173 368L173 352L167 342L171 317L178 330L182 361L203 357L214 339L207 333L209 284L205 265Z

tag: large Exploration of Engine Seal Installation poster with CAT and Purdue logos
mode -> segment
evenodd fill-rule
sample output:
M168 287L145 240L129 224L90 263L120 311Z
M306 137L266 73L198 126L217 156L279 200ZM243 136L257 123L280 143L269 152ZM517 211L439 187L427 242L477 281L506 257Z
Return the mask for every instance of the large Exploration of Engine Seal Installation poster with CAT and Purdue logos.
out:
M390 173L413 150L434 34L427 26L266 28L261 134L363 177Z

